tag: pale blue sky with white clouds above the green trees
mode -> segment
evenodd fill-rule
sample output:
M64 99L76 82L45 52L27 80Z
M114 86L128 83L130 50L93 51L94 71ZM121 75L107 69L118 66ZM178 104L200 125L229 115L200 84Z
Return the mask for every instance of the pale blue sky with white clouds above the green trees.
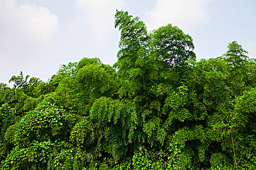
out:
M83 57L117 62L116 10L168 23L193 37L197 60L227 51L236 40L256 58L256 0L0 0L0 82L12 75L47 81L61 64Z

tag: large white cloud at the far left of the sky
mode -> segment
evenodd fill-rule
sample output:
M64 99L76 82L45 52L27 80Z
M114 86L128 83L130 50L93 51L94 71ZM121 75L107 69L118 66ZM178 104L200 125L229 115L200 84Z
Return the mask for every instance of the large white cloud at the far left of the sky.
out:
M21 61L42 51L58 30L58 17L47 8L0 0L1 61Z

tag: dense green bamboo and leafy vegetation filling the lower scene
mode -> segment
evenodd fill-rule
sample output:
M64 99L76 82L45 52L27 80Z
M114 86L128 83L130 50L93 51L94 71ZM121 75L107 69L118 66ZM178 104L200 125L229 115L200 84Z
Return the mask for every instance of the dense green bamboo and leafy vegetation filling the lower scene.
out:
M0 84L2 170L255 170L256 60L196 61L190 35L117 11L118 62Z

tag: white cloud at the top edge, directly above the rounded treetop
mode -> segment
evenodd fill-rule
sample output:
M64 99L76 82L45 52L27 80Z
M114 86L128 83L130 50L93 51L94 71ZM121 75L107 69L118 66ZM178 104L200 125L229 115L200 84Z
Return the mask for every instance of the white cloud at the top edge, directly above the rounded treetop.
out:
M157 0L156 7L146 13L147 26L153 30L171 23L191 29L209 19L206 9L209 2L211 0Z

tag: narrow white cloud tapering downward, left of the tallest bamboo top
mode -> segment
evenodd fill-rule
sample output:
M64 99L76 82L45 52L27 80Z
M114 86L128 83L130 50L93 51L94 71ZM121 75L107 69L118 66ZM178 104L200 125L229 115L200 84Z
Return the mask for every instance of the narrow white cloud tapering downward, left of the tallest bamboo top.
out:
M76 0L77 8L86 15L91 33L103 42L114 29L114 15L122 8L124 0Z

